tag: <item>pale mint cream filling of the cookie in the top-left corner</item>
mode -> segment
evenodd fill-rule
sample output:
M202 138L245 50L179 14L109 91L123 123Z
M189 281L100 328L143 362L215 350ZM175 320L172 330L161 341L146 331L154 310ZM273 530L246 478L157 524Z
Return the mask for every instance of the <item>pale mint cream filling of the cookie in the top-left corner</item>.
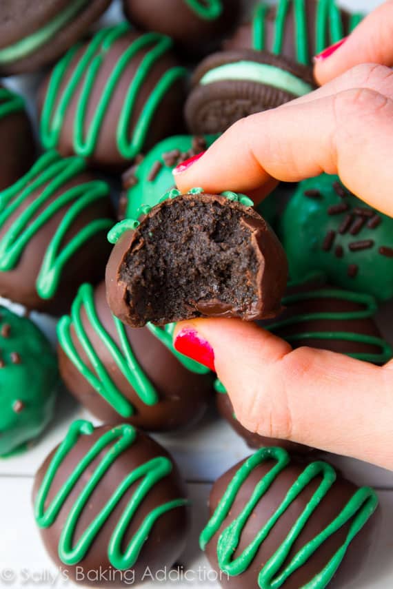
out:
M46 25L41 27L36 32L24 37L17 43L9 45L6 48L0 50L0 64L10 63L11 61L17 61L23 59L34 51L37 51L43 45L48 43L53 37L72 19L77 16L78 12L88 5L89 0L74 0L69 2L63 11L50 20Z

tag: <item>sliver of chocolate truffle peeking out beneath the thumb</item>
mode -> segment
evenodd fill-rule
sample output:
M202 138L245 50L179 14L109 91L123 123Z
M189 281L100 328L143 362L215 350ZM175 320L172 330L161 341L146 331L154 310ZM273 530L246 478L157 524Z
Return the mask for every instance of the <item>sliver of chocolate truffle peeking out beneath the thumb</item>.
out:
M219 413L222 417L230 424L230 426L243 437L243 440L247 443L250 448L264 448L265 446L279 446L279 448L285 448L288 452L304 454L312 451L313 448L310 446L304 446L303 444L297 444L290 440L279 440L276 437L265 437L258 433L248 431L241 423L236 420L234 416L234 409L232 402L227 393L217 393L216 405Z

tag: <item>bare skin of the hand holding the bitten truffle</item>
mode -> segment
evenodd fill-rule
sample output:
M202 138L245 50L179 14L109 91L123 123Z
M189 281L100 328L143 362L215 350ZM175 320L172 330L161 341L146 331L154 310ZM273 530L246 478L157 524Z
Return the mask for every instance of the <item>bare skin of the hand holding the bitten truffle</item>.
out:
M326 172L339 174L356 196L393 216L393 70L387 67L393 65L392 39L390 1L337 50L343 61L333 54L316 65L323 87L233 125L199 161L175 172L179 189L230 188L263 198L276 180L296 182ZM351 67L364 59L385 65ZM183 322L174 337L190 327L212 347L236 417L250 431L393 470L393 360L374 366L330 351L292 350L236 319Z

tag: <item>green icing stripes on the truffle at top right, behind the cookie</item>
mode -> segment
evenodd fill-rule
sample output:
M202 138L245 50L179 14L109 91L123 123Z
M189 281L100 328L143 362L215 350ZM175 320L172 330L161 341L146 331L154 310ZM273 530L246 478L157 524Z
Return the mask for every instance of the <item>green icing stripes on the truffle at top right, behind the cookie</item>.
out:
M341 9L334 0L317 0L315 21L316 53L320 53L328 45L337 43L345 36ZM266 47L266 19L271 7L260 3L254 12L252 21L252 45L255 50L269 50L279 55L283 51L285 27L290 10L293 6L294 38L296 43L296 59L304 65L311 65L312 52L308 38L307 0L279 0L274 20L274 40L272 47ZM350 31L362 20L361 14L353 14L350 19Z

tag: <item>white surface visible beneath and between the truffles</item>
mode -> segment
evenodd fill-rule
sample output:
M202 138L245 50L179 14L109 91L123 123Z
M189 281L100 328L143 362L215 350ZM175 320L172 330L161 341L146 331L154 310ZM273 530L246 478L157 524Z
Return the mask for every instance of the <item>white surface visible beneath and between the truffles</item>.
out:
M164 1L164 0L163 0ZM370 10L378 0L343 0L351 10ZM112 7L107 19L116 20L119 5ZM34 95L37 76L13 79L10 85L26 95ZM393 343L392 307L381 312L380 324L385 335ZM40 320L42 326L42 318ZM46 331L51 331L50 321L45 320ZM66 433L68 425L77 417L87 414L66 394L61 395L57 407L57 419L46 435L28 453L13 459L0 460L0 587L60 587L72 583L59 575L46 555L37 528L34 525L30 493L32 477L44 457ZM193 502L193 525L188 546L180 559L189 571L188 582L160 583L163 589L176 586L186 589L197 586L202 589L218 587L210 580L210 568L198 548L198 536L207 520L207 500L211 483L230 466L250 454L249 449L212 412L192 431L179 435L157 437L174 455L184 477L188 480ZM352 579L345 589L390 589L393 588L393 473L356 460L328 456L347 477L358 484L372 485L380 489L381 514L372 550L363 563L361 574ZM207 579L207 580L205 580ZM158 583L154 583L154 587ZM144 587L150 589L152 583Z

